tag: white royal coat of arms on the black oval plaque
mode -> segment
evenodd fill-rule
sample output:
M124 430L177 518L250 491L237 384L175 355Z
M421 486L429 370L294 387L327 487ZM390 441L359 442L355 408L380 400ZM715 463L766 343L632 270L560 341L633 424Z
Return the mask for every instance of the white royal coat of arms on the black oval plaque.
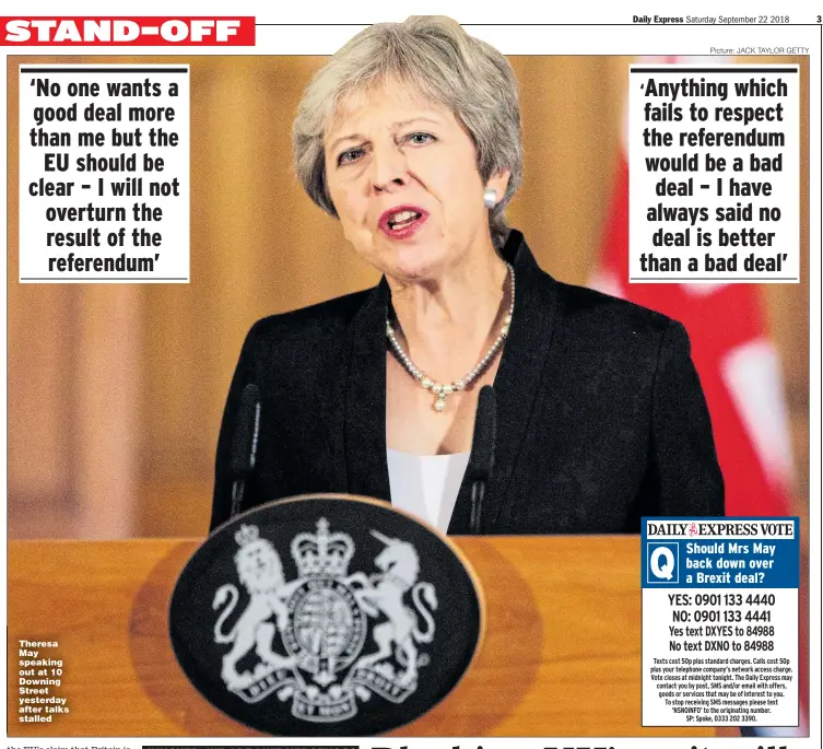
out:
M248 604L235 615L240 593L233 584L213 599L214 642L231 645L221 669L228 690L247 703L274 693L291 700L296 718L315 723L353 717L357 700L376 694L401 703L415 691L428 664L419 646L434 640L436 590L418 580L414 546L371 534L383 543L377 572L350 573L351 536L330 533L320 517L316 534L292 539L297 577L287 581L274 545L257 526L240 526L234 559Z

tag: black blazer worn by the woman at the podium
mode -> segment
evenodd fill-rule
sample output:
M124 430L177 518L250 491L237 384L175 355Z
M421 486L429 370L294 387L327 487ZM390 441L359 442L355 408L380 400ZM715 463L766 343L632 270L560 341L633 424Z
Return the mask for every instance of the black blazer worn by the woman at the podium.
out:
M544 273L519 232L503 249L516 301L494 388L486 534L637 533L643 515L722 515L724 484L689 339L674 320ZM243 510L308 492L390 500L386 279L259 320L232 381L211 527L230 517L240 394L261 393ZM463 480L449 534L468 533Z

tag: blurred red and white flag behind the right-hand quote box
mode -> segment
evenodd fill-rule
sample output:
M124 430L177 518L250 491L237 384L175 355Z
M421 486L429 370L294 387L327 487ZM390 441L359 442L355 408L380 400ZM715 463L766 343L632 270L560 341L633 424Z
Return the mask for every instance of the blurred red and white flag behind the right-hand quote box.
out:
M644 58L699 62L699 58ZM705 60L704 60L705 61ZM730 61L730 60L727 60ZM713 66L718 58L710 58ZM607 218L600 265L590 285L681 321L712 416L726 485L727 515L791 514L791 444L780 363L766 330L760 286L742 283L633 283L628 279L628 160L624 148ZM800 632L801 721L808 734L808 632Z

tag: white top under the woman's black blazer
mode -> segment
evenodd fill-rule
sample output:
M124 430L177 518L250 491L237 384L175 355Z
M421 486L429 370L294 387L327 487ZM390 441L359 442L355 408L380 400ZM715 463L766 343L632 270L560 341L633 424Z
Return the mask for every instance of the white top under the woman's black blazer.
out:
M468 453L412 455L387 449L391 505L444 534L469 465Z

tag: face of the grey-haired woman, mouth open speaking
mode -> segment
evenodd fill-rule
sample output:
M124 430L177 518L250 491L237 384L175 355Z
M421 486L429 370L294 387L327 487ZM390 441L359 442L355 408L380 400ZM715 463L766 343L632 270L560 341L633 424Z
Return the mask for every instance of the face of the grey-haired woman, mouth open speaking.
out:
M378 270L436 279L490 251L474 144L448 109L387 80L353 98L326 132L326 177L343 232ZM508 174L487 186L497 199Z

